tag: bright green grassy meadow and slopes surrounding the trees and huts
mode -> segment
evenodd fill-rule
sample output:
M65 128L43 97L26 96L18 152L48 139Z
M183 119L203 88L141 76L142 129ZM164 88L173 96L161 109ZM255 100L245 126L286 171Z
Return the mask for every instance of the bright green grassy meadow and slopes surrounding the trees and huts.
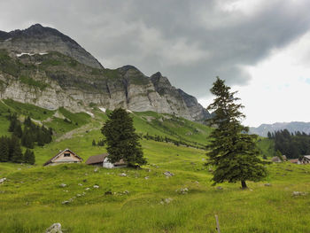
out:
M43 167L66 148L84 161L105 152L105 147L91 145L102 138L105 113L96 107L94 117L65 109L44 113L33 105L0 102L1 135L9 135L8 108L21 117L32 113L54 128L55 135L52 143L35 146L35 166L0 163L0 178L7 178L0 184L0 232L44 232L54 222L60 222L64 232L217 232L214 214L224 233L310 232L310 166L271 164L266 180L248 183L248 190L241 190L239 183L212 186L205 151L143 139L148 164L142 169ZM211 130L158 113L132 115L140 134L206 144ZM262 151L269 150L270 142L260 144ZM166 171L174 175L167 178ZM293 196L293 191L305 195ZM66 200L69 203L62 204Z

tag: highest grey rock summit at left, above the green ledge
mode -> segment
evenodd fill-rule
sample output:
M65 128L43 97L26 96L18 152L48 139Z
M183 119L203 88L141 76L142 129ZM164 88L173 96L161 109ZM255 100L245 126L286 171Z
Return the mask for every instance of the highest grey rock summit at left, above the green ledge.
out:
M70 37L58 30L35 24L26 30L15 30L9 33L0 31L0 49L10 50L15 54L43 53L51 50L61 52L82 64L103 68L96 58L81 48Z

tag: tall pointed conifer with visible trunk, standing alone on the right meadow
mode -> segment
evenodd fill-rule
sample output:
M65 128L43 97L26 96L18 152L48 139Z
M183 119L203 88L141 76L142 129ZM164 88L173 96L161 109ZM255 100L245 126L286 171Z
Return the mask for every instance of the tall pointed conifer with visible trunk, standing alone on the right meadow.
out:
M249 128L241 125L244 114L243 105L237 104L236 92L230 92L225 82L217 78L210 89L215 96L208 110L213 111L209 124L215 127L211 133L211 143L207 146L209 161L206 165L215 167L213 184L241 182L246 189L246 181L260 181L267 175L263 166L267 162L260 160L260 151L255 140L257 136L248 135Z

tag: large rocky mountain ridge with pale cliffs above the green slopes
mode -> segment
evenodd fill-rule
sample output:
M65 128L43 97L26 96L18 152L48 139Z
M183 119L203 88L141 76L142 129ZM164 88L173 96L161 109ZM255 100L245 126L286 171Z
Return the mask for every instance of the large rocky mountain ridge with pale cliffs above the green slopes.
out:
M107 69L70 37L38 24L0 31L0 98L73 112L97 105L196 121L210 117L195 97L159 72L148 77L135 66Z

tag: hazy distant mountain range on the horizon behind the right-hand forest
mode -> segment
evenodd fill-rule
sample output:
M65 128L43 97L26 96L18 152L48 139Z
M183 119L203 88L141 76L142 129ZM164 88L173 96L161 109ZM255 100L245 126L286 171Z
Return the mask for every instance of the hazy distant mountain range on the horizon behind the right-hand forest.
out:
M274 124L262 124L258 128L250 128L250 133L256 134L259 136L267 136L268 131L270 133L283 130L286 128L291 133L305 132L310 134L310 122L301 122L301 121L292 121L292 122L283 122L283 123L274 123Z

